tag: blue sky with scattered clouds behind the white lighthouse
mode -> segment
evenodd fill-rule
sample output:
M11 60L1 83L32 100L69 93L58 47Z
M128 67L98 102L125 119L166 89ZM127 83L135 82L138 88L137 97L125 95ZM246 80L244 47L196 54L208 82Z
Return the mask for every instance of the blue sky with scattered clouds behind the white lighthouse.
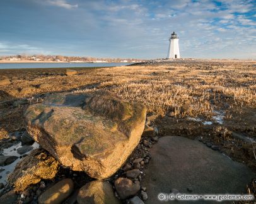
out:
M0 55L256 58L256 2L1 0Z

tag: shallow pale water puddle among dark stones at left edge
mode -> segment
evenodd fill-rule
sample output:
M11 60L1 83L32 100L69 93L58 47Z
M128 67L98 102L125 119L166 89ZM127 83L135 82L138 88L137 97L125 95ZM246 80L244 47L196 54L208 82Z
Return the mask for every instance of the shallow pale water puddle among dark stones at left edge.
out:
M18 159L16 159L13 163L11 163L9 165L0 166L0 171L1 171L1 169L4 169L3 171L0 172L0 183L3 183L4 185L6 185L8 174L13 172L16 164L21 160L20 156L22 156L23 154L17 153L17 149L21 148L21 147L22 147L21 142L18 142L16 144L14 144L13 146L11 146L10 148L3 149L2 154L4 154L4 156L18 156ZM32 147L33 147L33 149L37 149L39 147L39 144L37 142L34 142ZM32 150L30 150L30 151L32 151ZM29 154L30 151L26 152L25 154ZM0 190L0 192L1 192L1 190Z

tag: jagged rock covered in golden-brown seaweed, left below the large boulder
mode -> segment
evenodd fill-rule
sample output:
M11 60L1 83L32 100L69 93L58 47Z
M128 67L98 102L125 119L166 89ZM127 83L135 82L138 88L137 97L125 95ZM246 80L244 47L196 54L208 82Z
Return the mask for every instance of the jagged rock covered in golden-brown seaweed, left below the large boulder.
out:
M15 191L23 191L42 179L53 179L58 169L59 162L55 158L44 149L35 149L16 165L8 181L15 187Z

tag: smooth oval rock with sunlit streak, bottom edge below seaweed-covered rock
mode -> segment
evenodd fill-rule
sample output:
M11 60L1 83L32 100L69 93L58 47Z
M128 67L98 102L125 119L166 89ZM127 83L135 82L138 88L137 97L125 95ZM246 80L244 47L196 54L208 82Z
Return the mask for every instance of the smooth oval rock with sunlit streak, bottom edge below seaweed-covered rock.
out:
M39 204L59 204L71 195L74 190L74 183L71 179L66 178L59 181L54 186L48 188L38 198Z

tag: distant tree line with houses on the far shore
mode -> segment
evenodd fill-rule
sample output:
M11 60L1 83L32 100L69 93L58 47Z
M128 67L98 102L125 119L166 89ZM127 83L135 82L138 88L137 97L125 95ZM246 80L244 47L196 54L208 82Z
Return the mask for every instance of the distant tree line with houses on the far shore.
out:
M11 55L0 56L0 60L36 60L36 61L61 61L61 62L143 62L135 58L96 58L91 56L62 56L62 55Z

